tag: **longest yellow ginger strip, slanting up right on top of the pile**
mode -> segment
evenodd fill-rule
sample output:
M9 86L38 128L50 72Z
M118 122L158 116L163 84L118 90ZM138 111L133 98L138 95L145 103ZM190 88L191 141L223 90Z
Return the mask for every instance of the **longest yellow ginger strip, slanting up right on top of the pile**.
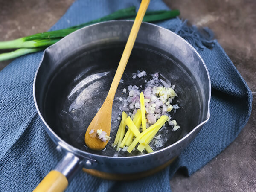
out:
M141 138L143 138L143 136L147 135L147 134L150 134L152 131L154 131L155 128L158 128L160 125L161 127L163 126L163 124L167 121L168 119L168 116L166 115L163 115L161 116L157 122L153 125L151 125L149 128L147 128L145 131L142 131L139 135L139 137L137 137L132 143L131 145L127 148L127 151L129 153L131 153L131 151L136 147L137 143L139 142L139 140L141 140ZM162 124L162 122L164 122ZM161 128L160 127L160 128Z

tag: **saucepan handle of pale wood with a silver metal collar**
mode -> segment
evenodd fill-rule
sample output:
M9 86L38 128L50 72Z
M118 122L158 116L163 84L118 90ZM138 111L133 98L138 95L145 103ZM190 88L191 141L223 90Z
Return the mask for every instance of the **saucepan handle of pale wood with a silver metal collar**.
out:
M72 153L67 153L57 164L54 170L50 171L34 192L63 192L68 181L82 168L82 161Z

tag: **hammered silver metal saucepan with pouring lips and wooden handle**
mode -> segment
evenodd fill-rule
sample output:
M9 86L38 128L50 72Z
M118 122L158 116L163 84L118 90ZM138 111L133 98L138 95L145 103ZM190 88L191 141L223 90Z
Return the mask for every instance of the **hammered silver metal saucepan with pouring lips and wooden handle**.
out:
M162 130L167 139L153 153L118 152L111 143L122 103L115 99L111 140L102 151L87 148L84 134L108 93L132 24L118 20L87 26L44 51L34 80L35 106L63 159L36 189L64 190L81 169L107 179L145 177L172 162L208 121L211 86L201 56L179 35L142 23L116 97L123 97L128 85L145 84L132 73L157 72L176 85L180 108L172 115L180 128L172 131L168 125Z

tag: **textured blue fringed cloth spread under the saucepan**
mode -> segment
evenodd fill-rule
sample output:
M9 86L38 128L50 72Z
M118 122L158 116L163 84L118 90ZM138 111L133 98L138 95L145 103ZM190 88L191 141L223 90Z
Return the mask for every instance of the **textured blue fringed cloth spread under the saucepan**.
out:
M51 30L84 23L118 9L138 8L140 0L77 0ZM168 9L151 0L149 10ZM200 41L197 29L178 18L157 23L191 42L204 59L212 80L211 117L198 136L169 168L138 181L102 180L80 171L67 191L171 191L169 176L180 167L191 175L227 147L246 124L252 95L224 50L214 41ZM183 26L183 27L182 27ZM194 43L193 43L194 42ZM54 168L61 154L55 150L36 113L32 84L42 52L15 59L0 72L0 191L32 191Z

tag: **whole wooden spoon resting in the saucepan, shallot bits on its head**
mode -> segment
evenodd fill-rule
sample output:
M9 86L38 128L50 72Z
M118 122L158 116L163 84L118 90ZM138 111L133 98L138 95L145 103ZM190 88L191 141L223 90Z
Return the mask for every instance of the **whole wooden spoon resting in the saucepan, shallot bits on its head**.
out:
M127 43L125 45L124 52L122 54L121 60L119 62L117 70L116 70L116 74L112 81L111 87L108 91L107 98L105 99L104 103L102 104L102 107L99 109L97 114L94 116L92 122L90 123L89 127L87 128L85 138L84 138L85 144L87 145L87 147L89 147L93 150L98 150L98 151L102 150L105 148L105 146L108 143L108 141L103 142L102 140L97 138L97 135L96 135L96 137L92 137L93 134L89 134L89 133L93 129L94 136L95 136L96 131L98 129L102 129L102 131L105 131L108 136L110 135L113 99L114 99L119 81L122 77L122 74L124 73L125 66L128 62L130 55L131 55L131 49L134 46L135 39L136 39L138 31L140 29L140 24L143 20L145 12L148 8L149 2L150 2L150 0L142 0L140 3L139 11L134 20L134 24L131 28L131 32L128 37Z

